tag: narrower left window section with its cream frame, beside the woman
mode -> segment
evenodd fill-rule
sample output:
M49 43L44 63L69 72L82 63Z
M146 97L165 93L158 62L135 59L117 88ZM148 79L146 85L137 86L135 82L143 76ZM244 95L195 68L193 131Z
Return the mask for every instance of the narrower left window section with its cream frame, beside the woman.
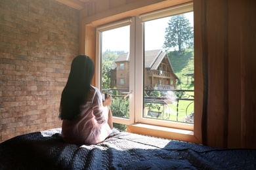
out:
M134 119L134 18L97 27L96 31L96 86L103 93L112 95L113 121L117 128L125 130L123 124ZM128 62L128 63L127 63ZM133 66L134 67L134 66ZM125 97L127 96L127 97ZM114 124L114 127L116 127Z

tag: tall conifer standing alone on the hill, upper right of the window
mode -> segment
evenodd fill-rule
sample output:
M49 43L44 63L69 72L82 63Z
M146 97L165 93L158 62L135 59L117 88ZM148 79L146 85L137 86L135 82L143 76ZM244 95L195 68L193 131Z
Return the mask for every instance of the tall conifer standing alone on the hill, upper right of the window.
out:
M190 48L194 44L193 27L184 14L171 16L168 27L165 28L165 42L163 48L177 48L179 52L183 48Z

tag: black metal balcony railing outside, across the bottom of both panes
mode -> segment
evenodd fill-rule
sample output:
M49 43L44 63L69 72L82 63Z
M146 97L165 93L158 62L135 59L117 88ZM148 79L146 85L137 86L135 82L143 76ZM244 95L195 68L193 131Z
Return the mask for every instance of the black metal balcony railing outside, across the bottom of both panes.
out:
M112 95L113 116L129 118L129 90L103 90ZM144 118L194 124L194 90L144 90ZM126 96L126 97L125 97Z

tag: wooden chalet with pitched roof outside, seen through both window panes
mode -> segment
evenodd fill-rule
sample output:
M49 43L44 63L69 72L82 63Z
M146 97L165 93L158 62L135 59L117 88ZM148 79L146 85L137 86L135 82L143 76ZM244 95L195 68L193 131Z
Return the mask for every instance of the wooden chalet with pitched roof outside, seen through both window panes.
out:
M129 89L129 53L120 54L111 71L110 88ZM171 62L163 50L145 52L144 87L146 89L175 89L178 76L173 72Z

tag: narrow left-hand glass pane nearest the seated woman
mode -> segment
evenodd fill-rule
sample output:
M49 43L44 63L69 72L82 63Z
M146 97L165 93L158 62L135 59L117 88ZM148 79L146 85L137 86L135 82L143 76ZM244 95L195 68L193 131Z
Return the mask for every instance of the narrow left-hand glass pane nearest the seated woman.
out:
M129 39L130 26L103 31L102 93L112 95L113 116L129 118Z

